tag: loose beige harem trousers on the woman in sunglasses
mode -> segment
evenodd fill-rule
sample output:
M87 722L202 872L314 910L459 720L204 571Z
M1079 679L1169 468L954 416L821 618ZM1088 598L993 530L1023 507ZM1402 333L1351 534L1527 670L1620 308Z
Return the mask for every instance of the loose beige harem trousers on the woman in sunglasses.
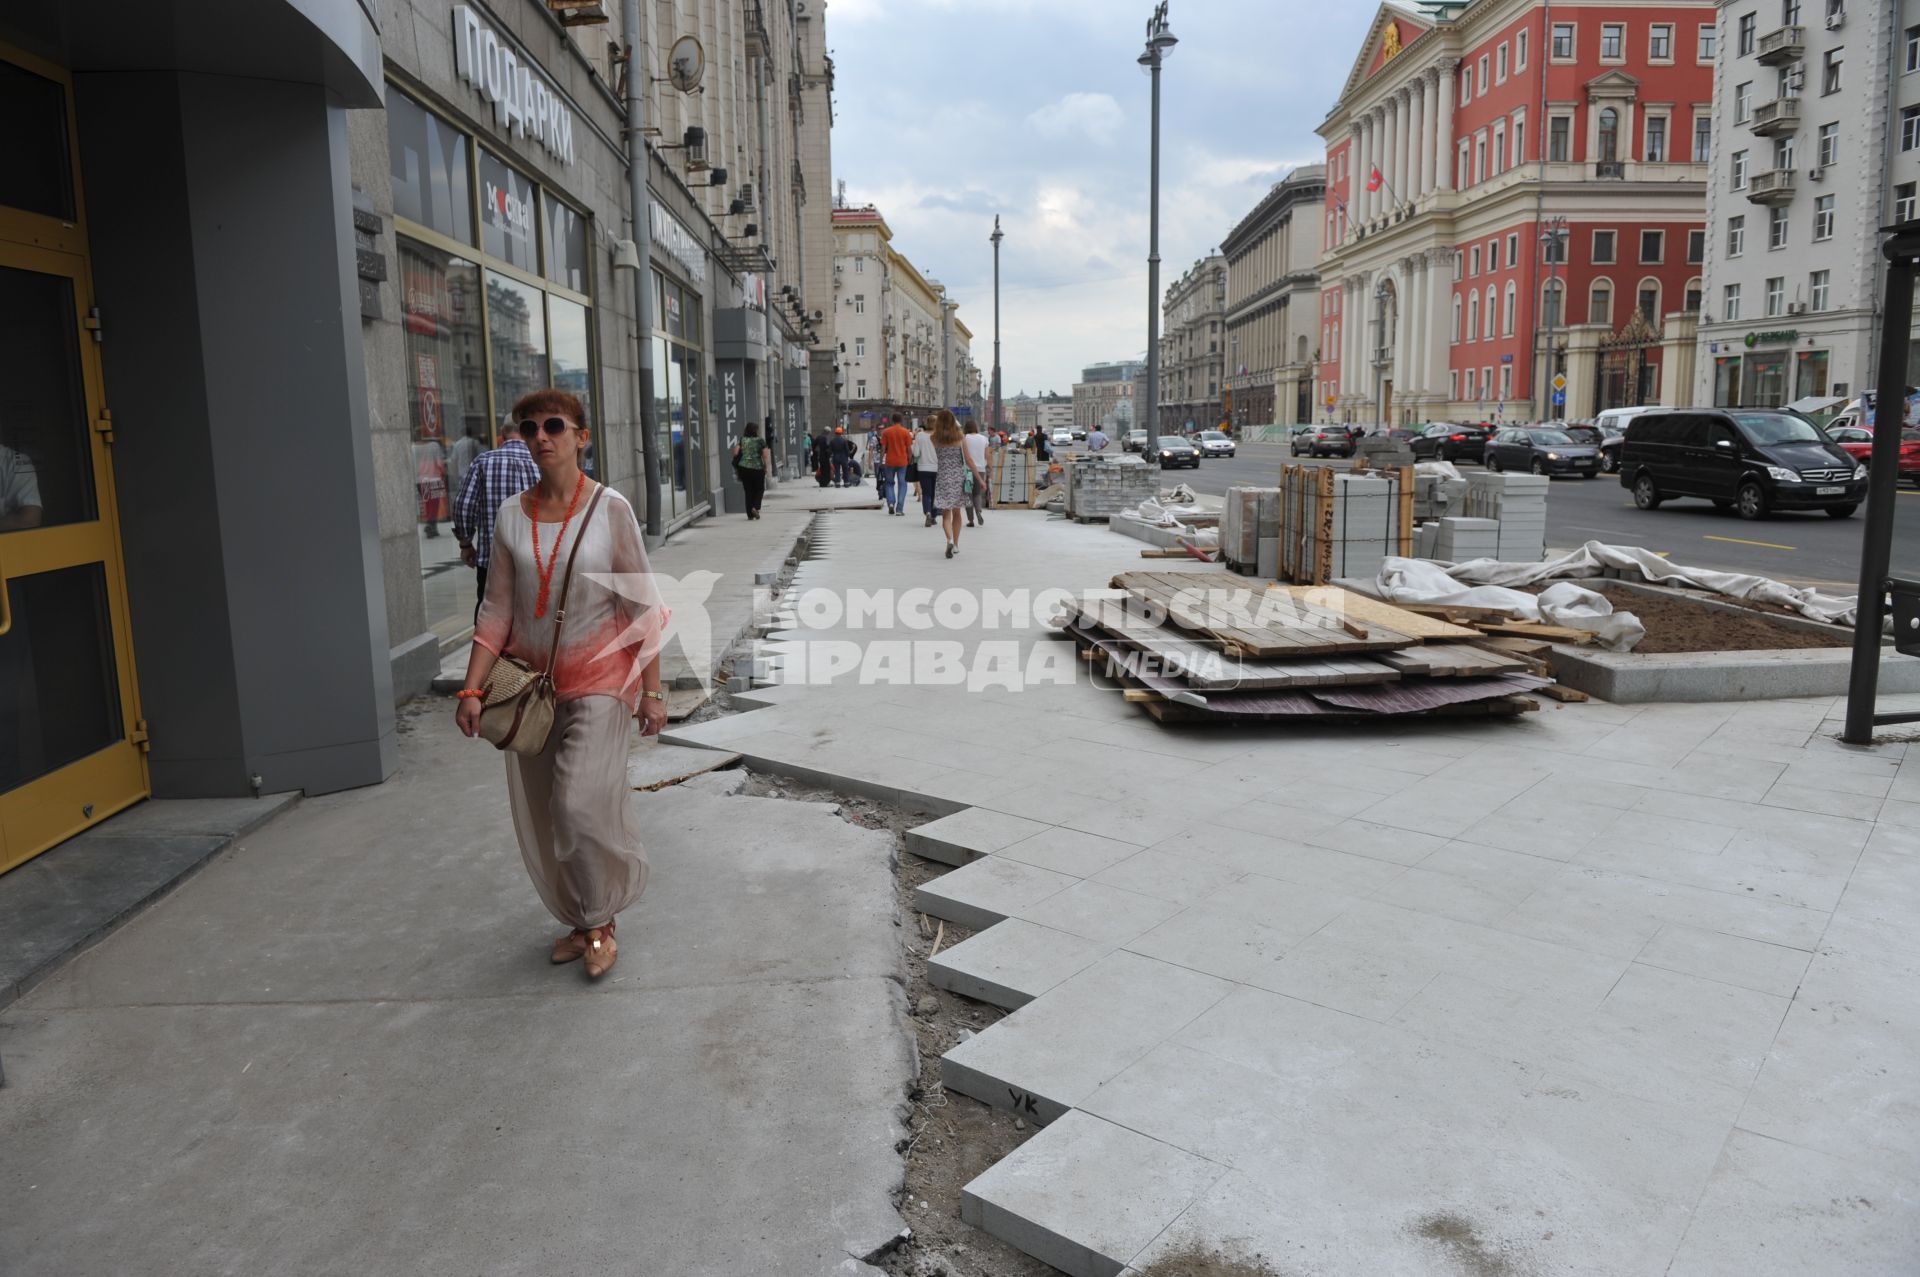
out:
M555 707L538 755L507 755L520 858L547 910L568 928L605 926L647 889L626 755L634 712L614 697Z

